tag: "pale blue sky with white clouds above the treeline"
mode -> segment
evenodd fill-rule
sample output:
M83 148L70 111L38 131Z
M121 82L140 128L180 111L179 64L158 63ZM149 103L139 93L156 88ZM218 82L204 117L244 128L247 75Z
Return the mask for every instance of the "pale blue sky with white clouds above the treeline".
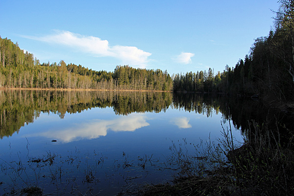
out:
M1 0L0 36L43 62L197 72L235 67L277 0Z

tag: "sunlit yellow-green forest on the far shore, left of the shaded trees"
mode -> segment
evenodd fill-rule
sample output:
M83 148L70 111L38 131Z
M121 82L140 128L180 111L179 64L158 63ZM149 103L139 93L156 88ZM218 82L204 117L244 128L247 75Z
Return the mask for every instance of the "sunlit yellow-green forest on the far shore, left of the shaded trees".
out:
M11 40L0 38L0 88L172 91L167 71L117 66L114 72L81 65L42 63Z

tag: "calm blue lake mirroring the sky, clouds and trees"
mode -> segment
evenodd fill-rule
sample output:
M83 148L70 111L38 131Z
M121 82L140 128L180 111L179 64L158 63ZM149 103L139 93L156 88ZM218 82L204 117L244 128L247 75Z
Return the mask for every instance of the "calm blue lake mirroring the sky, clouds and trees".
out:
M112 196L168 182L178 172L169 162L172 146L194 153L221 138L229 122L243 141L236 122L245 109L229 104L202 94L0 90L0 195L40 187Z

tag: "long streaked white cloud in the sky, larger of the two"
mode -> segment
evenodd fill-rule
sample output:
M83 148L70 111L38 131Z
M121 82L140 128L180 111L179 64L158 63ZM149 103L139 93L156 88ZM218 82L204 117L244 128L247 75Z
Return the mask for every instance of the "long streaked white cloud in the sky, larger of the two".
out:
M151 53L130 46L109 46L107 40L101 40L94 36L83 36L70 31L56 30L54 34L43 37L24 36L25 38L48 43L56 43L78 49L85 53L99 57L115 57L122 61L122 64L139 66L145 68Z

